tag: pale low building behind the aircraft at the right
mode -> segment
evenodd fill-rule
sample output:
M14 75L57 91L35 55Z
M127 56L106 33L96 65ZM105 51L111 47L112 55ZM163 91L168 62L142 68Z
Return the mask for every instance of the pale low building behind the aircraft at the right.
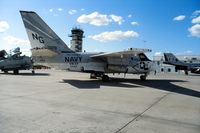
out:
M200 55L176 55L176 57L183 62L200 63ZM181 71L176 71L173 65L164 64L164 55L153 56L153 61L156 63L157 73L183 73Z

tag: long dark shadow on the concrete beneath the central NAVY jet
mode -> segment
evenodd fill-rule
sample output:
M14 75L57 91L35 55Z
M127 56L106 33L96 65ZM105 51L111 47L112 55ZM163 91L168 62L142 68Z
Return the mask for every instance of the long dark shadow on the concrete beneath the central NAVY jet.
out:
M200 98L200 92L175 85L173 83L187 82L184 80L166 80L166 79L148 79L141 81L139 79L110 78L109 82L100 80L68 80L63 79L60 83L68 83L78 89L100 89L101 86L112 86L119 88L150 87L152 89L164 90L187 96ZM149 89L149 88L148 88Z

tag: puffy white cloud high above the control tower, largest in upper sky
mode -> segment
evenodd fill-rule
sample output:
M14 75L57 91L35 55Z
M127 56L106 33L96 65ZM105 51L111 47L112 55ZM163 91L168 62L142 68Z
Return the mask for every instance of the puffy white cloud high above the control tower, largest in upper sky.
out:
M93 12L89 15L81 15L78 17L77 22L79 23L89 23L95 26L108 25L111 20L107 15L99 14L98 12Z

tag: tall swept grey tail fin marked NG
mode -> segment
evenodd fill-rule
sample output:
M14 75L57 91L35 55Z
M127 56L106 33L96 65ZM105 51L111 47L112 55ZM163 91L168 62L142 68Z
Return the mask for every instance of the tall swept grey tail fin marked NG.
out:
M39 49L45 51L43 54L73 52L37 13L32 11L20 11L20 14L31 43L32 54L37 54L38 52L33 51ZM42 51L39 53L42 53Z

